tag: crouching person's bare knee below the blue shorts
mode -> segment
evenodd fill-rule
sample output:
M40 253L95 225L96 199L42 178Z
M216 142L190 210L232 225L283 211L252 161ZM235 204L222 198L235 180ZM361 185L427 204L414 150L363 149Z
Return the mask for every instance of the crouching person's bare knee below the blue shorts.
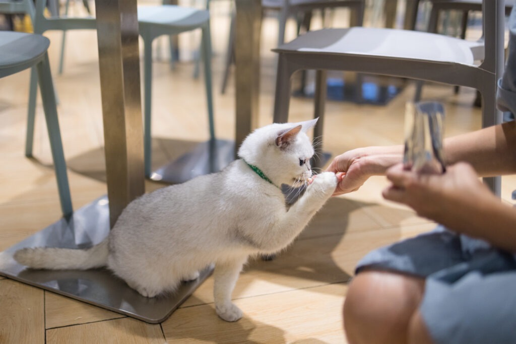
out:
M407 343L411 319L425 282L418 277L366 270L354 277L344 302L344 328L350 344ZM413 323L414 333L420 335ZM423 325L424 326L424 325Z

